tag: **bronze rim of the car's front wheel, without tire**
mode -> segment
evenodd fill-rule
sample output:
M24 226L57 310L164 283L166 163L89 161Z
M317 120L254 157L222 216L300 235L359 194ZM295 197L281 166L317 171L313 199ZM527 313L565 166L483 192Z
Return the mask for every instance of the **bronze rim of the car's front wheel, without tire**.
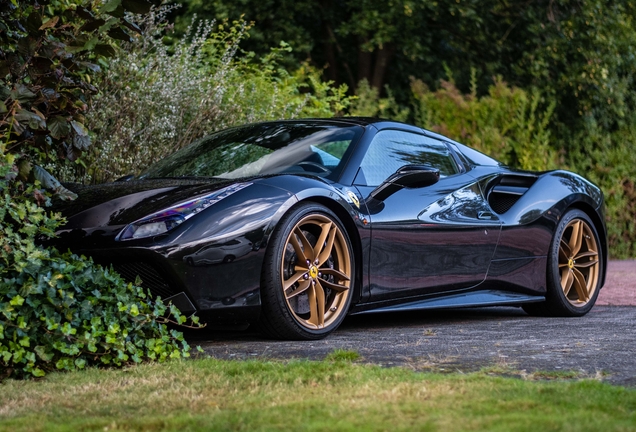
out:
M320 213L306 215L287 236L282 258L283 295L301 326L323 329L346 313L351 256L338 224Z

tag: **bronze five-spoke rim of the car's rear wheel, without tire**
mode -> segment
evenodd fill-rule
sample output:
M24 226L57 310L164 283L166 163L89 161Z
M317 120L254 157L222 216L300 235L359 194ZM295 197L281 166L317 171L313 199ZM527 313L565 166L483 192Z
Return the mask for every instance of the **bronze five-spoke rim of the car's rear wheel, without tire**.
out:
M595 294L600 273L596 236L583 219L572 219L559 243L561 289L573 306L586 305Z

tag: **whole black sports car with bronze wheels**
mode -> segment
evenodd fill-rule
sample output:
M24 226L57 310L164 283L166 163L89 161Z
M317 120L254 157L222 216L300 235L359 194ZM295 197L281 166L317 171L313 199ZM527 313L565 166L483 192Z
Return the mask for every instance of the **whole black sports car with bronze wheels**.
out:
M139 275L185 313L275 338L322 338L364 312L580 316L605 280L598 187L392 121L250 124L72 189L58 246Z

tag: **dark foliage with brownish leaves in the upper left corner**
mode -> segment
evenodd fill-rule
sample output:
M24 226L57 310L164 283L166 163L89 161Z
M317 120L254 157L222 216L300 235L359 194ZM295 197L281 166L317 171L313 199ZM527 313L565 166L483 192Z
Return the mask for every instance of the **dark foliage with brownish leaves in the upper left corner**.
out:
M145 0L0 1L0 134L6 151L37 162L73 161L90 146L85 114L97 93L91 77L115 53L114 40L139 31L125 11L147 12L150 6Z

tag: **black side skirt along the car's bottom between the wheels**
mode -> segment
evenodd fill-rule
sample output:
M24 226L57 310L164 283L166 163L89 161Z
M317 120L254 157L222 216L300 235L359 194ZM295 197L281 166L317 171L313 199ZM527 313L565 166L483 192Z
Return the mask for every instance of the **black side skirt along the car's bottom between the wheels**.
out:
M396 312L423 309L450 309L459 307L504 306L545 301L544 296L511 293L507 291L485 290L453 294L424 300L416 300L392 306L353 312L351 315Z

